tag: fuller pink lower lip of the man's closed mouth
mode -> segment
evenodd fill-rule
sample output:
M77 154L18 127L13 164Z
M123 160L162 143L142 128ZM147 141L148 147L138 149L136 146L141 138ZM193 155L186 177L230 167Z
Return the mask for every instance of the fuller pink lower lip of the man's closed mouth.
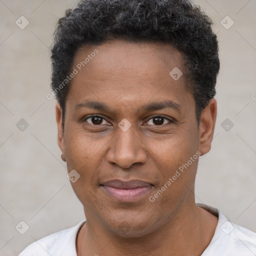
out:
M135 201L145 195L152 186L142 186L132 189L121 189L111 186L102 186L102 188L112 197L119 201Z

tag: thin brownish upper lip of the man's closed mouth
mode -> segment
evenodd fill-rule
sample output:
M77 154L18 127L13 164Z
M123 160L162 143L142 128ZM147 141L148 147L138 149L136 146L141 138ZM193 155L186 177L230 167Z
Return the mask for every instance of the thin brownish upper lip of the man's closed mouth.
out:
M122 181L120 179L112 179L102 183L103 186L111 186L120 189L132 189L137 187L144 187L144 186L152 186L149 182L139 180L139 179L132 179L129 181Z

